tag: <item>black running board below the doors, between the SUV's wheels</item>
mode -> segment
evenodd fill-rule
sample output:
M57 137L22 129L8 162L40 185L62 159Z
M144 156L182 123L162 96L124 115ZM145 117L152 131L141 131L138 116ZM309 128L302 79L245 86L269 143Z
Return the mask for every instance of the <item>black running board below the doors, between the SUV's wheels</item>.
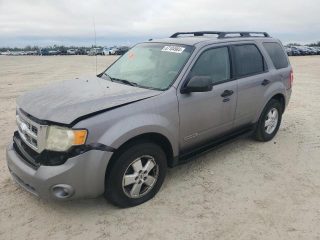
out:
M255 124L249 124L244 127L235 129L231 132L225 133L223 135L214 137L208 141L202 142L196 146L192 146L179 154L178 164L184 164L191 160L191 158L209 151L218 146L222 146L230 141L233 141L239 137L247 136L253 133Z

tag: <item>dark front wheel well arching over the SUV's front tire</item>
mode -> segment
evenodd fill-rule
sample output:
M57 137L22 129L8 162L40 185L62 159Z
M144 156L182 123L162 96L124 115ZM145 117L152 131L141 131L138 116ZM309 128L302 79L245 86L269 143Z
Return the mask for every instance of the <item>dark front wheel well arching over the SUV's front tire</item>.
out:
M154 142L154 143L158 144L159 146L161 146L165 155L166 155L167 165L172 164L173 150L172 150L172 146L171 146L171 143L168 140L168 138L166 138L164 135L162 135L160 133L148 132L148 133L143 133L143 134L134 136L134 137L130 138L129 140L125 141L121 146L119 146L112 154L112 157L110 159L110 162L108 163L108 166L112 165L111 162L116 158L116 156L119 153L121 153L123 148L127 147L128 145L134 145L134 144L141 142L141 141L151 141L151 142Z

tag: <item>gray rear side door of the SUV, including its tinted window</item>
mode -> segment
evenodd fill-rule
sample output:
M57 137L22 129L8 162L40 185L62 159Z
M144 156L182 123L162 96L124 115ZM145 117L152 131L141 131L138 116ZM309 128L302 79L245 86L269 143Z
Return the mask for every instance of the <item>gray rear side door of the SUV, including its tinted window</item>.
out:
M257 112L265 104L265 94L273 87L273 74L254 41L231 44L238 83L237 106L233 128L257 121Z

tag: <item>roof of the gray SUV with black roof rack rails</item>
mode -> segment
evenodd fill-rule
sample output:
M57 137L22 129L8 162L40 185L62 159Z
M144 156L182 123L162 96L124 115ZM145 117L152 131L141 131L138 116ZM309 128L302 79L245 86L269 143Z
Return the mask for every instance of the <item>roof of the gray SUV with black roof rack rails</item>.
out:
M193 34L193 36L185 36ZM228 34L232 36L227 36ZM184 36L179 36L184 35ZM150 39L144 42L163 42L163 43L173 43L173 44L184 44L184 45L195 45L198 42L215 40L215 41L225 41L225 39L242 39L242 38L265 38L270 37L266 32L254 32L254 31L195 31L195 32L176 32L170 37L161 39Z

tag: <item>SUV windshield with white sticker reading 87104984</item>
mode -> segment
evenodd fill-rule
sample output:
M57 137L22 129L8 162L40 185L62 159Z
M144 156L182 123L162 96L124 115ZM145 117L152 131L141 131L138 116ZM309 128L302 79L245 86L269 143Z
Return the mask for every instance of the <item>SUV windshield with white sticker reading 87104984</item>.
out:
M170 43L139 43L114 62L104 73L138 86L166 89L192 50L191 46ZM108 79L105 74L101 77Z

